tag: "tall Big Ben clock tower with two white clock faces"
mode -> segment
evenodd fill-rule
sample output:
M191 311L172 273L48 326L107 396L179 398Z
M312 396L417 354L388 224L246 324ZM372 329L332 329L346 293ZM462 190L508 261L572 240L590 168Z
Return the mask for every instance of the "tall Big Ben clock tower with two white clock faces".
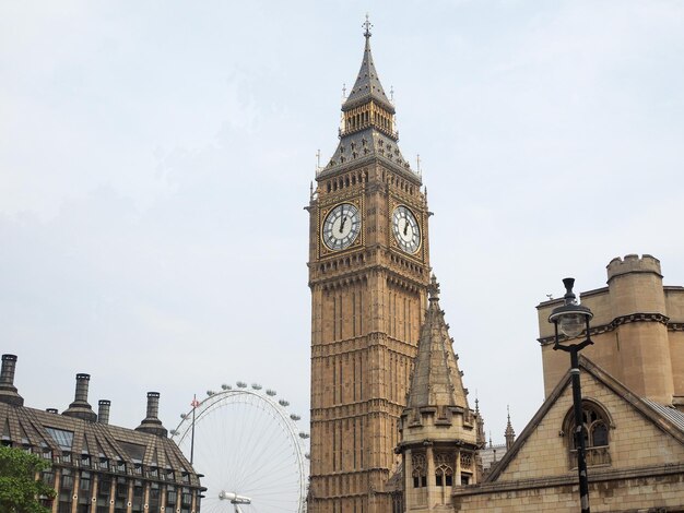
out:
M429 283L427 204L399 151L370 53L308 207L311 477L308 511L386 513Z

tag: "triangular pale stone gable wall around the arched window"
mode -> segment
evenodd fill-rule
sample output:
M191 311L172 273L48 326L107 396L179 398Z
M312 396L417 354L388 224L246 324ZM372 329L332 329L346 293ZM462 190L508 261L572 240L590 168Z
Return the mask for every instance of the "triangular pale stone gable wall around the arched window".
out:
M589 466L589 475L684 461L684 433L589 360L582 358L581 367L582 398L600 405L609 423L608 449L588 451L588 461L600 456L594 460L598 464ZM564 420L568 414L571 416L571 408L567 378L524 428L488 481L576 474L570 437L564 432Z

